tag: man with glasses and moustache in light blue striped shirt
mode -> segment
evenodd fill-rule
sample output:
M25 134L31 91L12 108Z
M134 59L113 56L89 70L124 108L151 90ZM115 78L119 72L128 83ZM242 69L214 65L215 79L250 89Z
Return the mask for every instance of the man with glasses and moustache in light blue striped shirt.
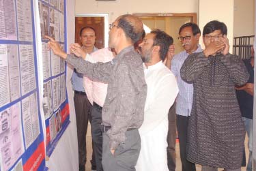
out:
M180 27L179 35L180 37L178 37L178 39L182 43L184 51L175 55L173 59L171 59L171 55L167 57L166 65L171 66L171 71L177 78L177 85L180 89L176 99L176 118L177 135L180 140L182 171L195 171L195 164L186 160L187 127L193 102L193 84L188 84L182 80L180 68L188 55L202 51L199 45L201 31L195 23L188 22Z

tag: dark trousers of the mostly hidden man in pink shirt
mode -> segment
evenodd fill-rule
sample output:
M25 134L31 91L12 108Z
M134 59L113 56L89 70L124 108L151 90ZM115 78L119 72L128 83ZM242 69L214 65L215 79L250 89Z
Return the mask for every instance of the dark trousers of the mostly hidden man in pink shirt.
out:
M93 104L91 108L91 136L94 143L94 153L96 159L97 171L102 171L102 131L100 125L102 123L102 108L97 104Z

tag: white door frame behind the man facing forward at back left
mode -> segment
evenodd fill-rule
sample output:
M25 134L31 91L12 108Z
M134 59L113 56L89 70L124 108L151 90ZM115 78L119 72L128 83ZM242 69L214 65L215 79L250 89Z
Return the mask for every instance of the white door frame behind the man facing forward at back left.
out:
M104 47L109 46L109 14L98 13L98 14L76 14L75 17L104 17Z

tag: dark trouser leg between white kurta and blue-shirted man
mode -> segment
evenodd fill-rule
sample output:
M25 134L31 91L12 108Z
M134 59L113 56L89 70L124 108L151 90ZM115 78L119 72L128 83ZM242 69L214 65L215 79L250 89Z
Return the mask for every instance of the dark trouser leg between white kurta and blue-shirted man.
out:
M176 153L175 153L175 144L176 144L176 113L175 113L175 106L171 106L169 113L168 113L168 120L169 120L169 128L167 134L167 164L169 171L175 171L176 167Z

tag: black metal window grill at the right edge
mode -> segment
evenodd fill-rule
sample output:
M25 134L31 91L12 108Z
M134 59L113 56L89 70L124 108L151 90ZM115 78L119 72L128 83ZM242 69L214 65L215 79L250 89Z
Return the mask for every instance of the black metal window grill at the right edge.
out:
M253 42L254 35L234 37L233 54L238 55L241 59L250 58Z

